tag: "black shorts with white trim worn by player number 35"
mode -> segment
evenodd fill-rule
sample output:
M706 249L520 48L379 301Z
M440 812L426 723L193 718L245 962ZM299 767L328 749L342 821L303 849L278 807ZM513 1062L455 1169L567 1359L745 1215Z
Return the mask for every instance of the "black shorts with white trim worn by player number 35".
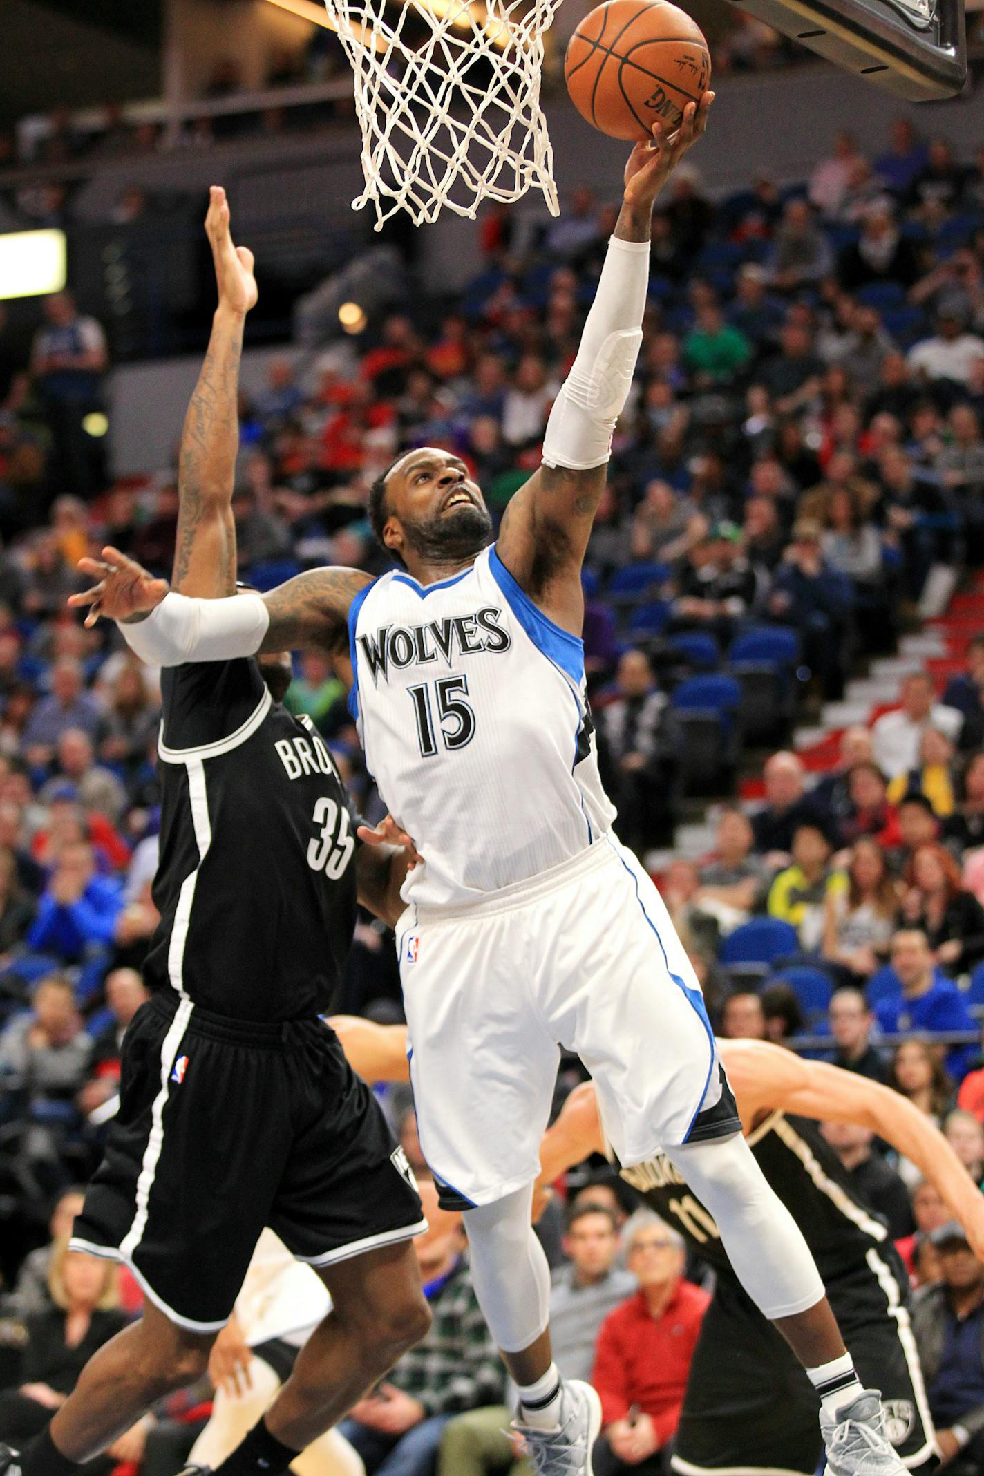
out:
M119 1113L72 1244L124 1261L171 1321L209 1333L264 1225L313 1266L426 1228L406 1156L329 1026L230 1020L161 990L127 1030Z

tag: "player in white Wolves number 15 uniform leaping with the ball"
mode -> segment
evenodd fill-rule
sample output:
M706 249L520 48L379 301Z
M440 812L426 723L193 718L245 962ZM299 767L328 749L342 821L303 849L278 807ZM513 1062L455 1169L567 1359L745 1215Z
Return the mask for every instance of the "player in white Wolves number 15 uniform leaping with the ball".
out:
M540 1476L592 1470L600 1407L550 1355L550 1278L530 1225L559 1045L590 1070L618 1162L665 1150L717 1221L749 1296L810 1373L835 1476L901 1467L789 1212L741 1135L698 982L651 878L612 834L584 700L580 571L626 403L655 196L713 97L656 125L624 201L543 465L493 545L466 466L401 456L370 514L398 570L316 570L270 595L195 601L114 549L74 604L161 664L317 645L353 666L366 762L423 865L397 928L420 1145L465 1210L475 1290L519 1387Z

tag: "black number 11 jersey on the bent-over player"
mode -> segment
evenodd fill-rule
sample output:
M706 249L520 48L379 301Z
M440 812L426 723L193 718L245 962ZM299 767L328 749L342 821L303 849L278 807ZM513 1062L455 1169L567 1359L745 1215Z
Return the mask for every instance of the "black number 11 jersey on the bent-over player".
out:
M867 1274L870 1250L888 1262L904 1284L885 1224L854 1188L816 1122L772 1113L748 1135L748 1145L803 1231L825 1286L851 1278L859 1269ZM664 1154L620 1172L702 1261L718 1275L735 1278L713 1216Z

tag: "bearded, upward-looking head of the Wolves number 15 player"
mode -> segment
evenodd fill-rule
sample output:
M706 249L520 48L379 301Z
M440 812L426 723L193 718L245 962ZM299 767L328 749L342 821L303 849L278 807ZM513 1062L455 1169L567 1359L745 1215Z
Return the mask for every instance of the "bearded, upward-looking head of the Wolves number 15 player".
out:
M465 462L450 452L412 452L389 474L387 502L384 542L407 567L465 561L491 539L485 500Z

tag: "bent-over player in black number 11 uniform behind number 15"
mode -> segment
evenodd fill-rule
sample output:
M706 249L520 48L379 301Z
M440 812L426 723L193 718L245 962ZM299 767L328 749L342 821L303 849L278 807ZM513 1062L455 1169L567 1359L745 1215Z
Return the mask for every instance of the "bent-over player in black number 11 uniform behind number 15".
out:
M406 1077L401 1026L347 1017L335 1026L350 1063L367 1080ZM898 1148L935 1184L981 1256L984 1196L943 1134L887 1086L761 1041L718 1041L718 1049L752 1153L813 1252L859 1376L882 1390L893 1444L910 1470L931 1470L938 1452L909 1321L909 1280L888 1231L816 1119L860 1123ZM540 1185L603 1151L595 1088L578 1086L543 1139ZM820 1458L816 1393L788 1343L744 1292L714 1219L665 1157L621 1175L717 1274L690 1365L674 1470L810 1476Z

